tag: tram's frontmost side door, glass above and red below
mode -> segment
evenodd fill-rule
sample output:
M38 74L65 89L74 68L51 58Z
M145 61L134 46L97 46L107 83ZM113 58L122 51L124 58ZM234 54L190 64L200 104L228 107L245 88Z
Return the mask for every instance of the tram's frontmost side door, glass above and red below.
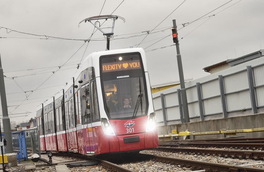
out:
M86 153L94 154L94 140L92 132L92 121L90 111L90 87L89 83L82 86L83 122L85 133Z

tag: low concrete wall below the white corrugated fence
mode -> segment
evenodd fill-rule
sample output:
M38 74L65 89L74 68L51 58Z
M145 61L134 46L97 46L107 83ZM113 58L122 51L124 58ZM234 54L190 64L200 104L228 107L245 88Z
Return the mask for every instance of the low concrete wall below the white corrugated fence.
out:
M240 117L230 117L222 119L214 119L208 121L190 122L184 124L171 125L171 130L177 130L177 133L186 131L206 132L206 131L219 131L223 128L226 130L238 130L238 129L251 129L251 128L263 128L264 127L264 113L258 113ZM165 135L171 133L170 126L157 127L158 135ZM237 133L236 136L247 137L264 137L264 131L251 132L251 133ZM224 134L216 135L204 135L195 136L195 139L207 139L207 138L223 138ZM233 137L233 136L227 136ZM179 137L182 139L182 137ZM193 136L191 136L193 139Z

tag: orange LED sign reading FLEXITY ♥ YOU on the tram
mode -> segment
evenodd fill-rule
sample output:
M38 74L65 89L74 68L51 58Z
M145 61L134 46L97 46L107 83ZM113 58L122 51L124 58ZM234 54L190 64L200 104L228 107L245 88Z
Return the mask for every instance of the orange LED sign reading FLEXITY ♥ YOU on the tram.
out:
M103 72L114 72L118 70L131 70L131 69L141 69L140 60L120 61L120 62L102 64Z

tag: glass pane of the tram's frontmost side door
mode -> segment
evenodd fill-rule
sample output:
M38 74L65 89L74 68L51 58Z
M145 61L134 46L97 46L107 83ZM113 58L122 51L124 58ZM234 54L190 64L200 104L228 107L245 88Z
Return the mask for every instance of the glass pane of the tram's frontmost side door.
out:
M82 86L82 104L84 124L91 123L89 84Z

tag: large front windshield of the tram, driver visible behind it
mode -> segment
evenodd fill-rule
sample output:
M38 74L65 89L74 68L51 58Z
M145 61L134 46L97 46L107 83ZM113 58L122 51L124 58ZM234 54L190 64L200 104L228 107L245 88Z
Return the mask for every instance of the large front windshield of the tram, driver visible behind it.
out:
M104 106L109 119L134 119L147 115L145 74L139 54L101 59Z

